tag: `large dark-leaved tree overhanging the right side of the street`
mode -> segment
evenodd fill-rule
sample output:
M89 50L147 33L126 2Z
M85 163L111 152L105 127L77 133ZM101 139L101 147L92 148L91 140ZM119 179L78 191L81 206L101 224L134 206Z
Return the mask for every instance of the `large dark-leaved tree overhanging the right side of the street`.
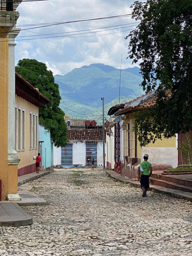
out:
M140 63L141 86L156 89L156 105L138 113L135 131L142 146L192 129L192 0L135 2L140 21L129 36L129 57Z

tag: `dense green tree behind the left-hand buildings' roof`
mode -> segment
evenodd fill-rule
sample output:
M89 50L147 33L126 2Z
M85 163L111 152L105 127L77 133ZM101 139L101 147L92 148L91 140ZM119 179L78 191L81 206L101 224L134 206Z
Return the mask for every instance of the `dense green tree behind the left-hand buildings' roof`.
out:
M46 108L39 109L39 122L50 130L54 145L64 147L67 141L65 113L59 108L59 85L54 83L52 71L47 70L45 63L35 59L19 60L15 71L51 101Z

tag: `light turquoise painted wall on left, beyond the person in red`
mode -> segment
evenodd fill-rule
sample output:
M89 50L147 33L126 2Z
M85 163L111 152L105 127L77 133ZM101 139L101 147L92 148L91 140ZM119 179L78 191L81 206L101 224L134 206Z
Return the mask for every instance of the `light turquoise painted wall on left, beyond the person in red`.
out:
M42 165L44 169L49 168L53 165L53 143L51 142L51 134L49 130L46 130L42 124L39 124L39 153L41 153L42 145Z

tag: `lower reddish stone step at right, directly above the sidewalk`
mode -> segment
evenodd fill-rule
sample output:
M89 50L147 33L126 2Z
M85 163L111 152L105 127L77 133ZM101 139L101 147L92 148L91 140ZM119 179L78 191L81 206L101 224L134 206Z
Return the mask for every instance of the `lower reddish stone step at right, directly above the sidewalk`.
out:
M150 182L151 182L152 185L157 185L157 186L161 186L161 187L165 187L165 188L177 189L177 190L192 193L192 187L179 185L178 183L174 183L174 182L170 182L170 181L166 181L166 180L161 180L161 179L156 179L156 178L153 178L153 177L150 177Z

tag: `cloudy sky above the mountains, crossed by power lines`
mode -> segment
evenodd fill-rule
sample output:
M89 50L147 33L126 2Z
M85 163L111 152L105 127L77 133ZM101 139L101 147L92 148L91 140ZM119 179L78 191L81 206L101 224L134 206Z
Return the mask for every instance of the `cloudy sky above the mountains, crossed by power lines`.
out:
M25 1L25 0L23 0ZM28 1L28 0L26 0ZM131 19L134 0L48 0L22 2L16 38L15 65L23 58L44 62L64 75L91 63L121 68L129 41L124 37L138 23ZM116 18L111 18L119 16ZM105 18L105 19L100 19Z

